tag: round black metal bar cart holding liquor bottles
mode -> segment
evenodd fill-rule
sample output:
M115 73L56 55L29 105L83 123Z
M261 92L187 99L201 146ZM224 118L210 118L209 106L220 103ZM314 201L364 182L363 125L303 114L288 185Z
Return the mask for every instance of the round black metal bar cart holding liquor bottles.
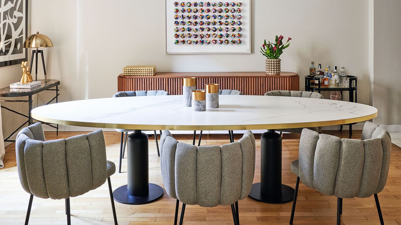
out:
M358 102L358 77L357 76L349 76L347 75L347 78L349 79L349 86L347 87L322 87L320 83L320 78L314 78L311 76L305 76L305 91L318 91L319 93L321 91L340 91L341 93L341 100L342 100L342 92L343 91L348 91L348 101L350 102ZM310 81L314 80L315 85L310 86ZM316 81L318 85L316 86ZM355 123L348 124L349 125L349 138L352 137L352 125ZM340 131L342 131L342 125L340 125Z

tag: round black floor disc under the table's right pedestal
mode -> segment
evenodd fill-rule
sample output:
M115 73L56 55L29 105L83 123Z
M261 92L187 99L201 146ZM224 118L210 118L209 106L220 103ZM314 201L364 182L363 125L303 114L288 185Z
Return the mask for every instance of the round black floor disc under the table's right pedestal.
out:
M260 183L255 183L252 185L251 193L249 193L249 197L253 200L270 203L270 204L282 204L288 203L294 200L294 188L281 185L281 195L263 195L260 192Z

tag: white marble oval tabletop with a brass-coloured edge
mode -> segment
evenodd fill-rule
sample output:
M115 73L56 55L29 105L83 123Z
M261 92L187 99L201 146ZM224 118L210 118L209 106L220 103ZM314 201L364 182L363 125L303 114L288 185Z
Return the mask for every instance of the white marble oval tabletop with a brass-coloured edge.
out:
M341 125L377 117L354 102L254 95L220 95L220 108L194 112L181 95L98 98L32 110L39 121L81 127L142 130L246 130Z

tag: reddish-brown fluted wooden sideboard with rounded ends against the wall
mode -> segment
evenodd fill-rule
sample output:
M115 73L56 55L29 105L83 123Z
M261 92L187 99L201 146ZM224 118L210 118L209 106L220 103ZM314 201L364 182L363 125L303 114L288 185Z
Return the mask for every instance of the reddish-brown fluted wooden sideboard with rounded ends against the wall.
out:
M182 94L182 78L196 77L197 88L205 84L219 84L220 89L235 89L247 95L263 95L270 90L299 90L297 73L281 72L267 75L265 72L157 72L155 76L118 76L118 91L166 90L170 94Z

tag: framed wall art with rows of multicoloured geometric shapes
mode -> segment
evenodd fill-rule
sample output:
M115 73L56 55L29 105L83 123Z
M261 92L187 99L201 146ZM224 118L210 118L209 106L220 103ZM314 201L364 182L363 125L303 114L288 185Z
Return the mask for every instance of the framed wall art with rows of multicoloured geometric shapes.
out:
M166 53L251 53L250 0L166 0Z

